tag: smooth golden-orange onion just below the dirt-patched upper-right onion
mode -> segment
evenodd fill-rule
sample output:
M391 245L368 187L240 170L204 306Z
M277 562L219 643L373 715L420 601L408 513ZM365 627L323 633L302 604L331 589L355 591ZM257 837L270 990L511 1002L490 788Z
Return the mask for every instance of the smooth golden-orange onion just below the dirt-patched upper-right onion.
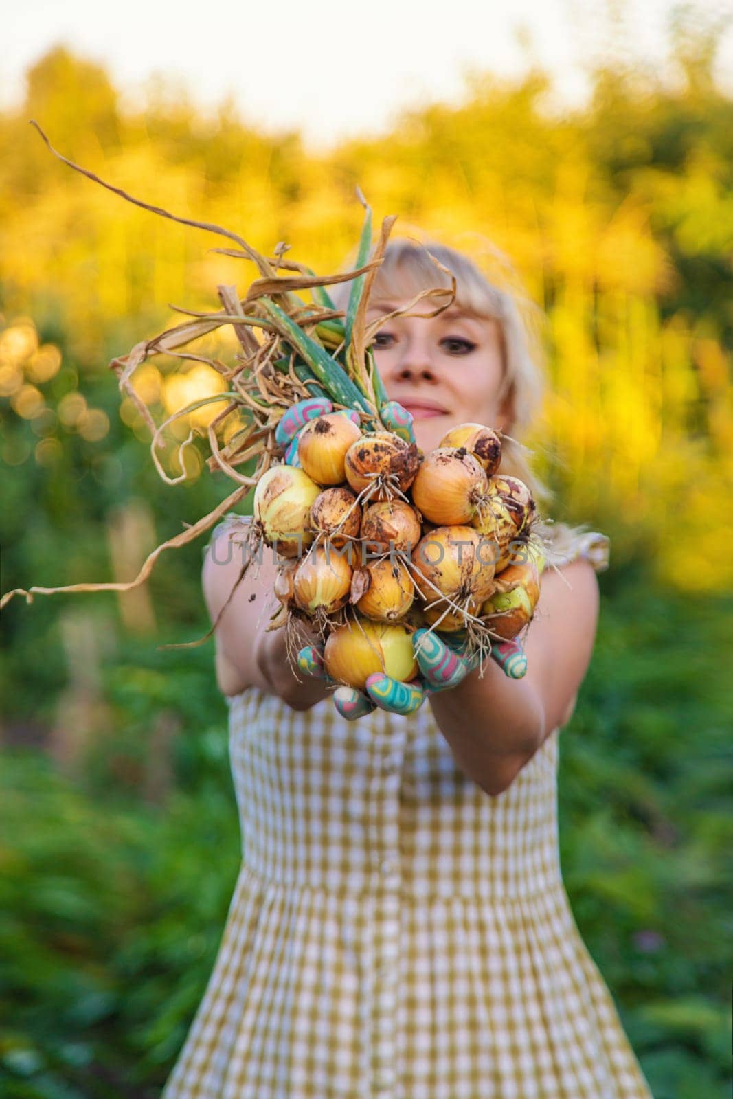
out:
M478 458L464 447L431 451L418 470L412 499L438 526L469 523L484 513L488 479Z

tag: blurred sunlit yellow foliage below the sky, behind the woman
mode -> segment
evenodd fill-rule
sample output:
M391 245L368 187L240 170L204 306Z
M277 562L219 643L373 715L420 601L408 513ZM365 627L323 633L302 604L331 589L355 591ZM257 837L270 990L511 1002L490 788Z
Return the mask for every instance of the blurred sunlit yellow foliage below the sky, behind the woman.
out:
M218 309L218 284L244 289L254 274L211 251L221 240L70 171L27 118L146 201L224 224L264 252L287 241L319 271L353 253L358 184L377 214L400 215L398 231L438 236L495 277L513 277L510 255L546 312L548 396L530 442L541 471L554 471L558 515L611 522L620 558L643 545L678 587L733 584L733 564L720 557L733 539L733 319L722 290L730 162L718 131L675 144L676 120L702 133L730 101L699 81L673 93L634 79L600 74L592 108L577 118L543 109L546 82L535 75L474 79L462 107L407 114L378 141L316 156L297 136L258 133L226 112L204 122L189 107L158 103L124 114L101 69L54 51L30 73L24 107L0 118L0 288L11 318L0 335L0 396L35 417L38 387L62 365L58 347L40 344L27 315L14 314L31 313L42 332L53 317L65 355L96 371L165 328L170 304ZM231 362L229 338L212 337L207 354ZM173 358L138 370L135 386L168 415L224 389L207 365ZM171 436L204 430L221 407L202 406ZM88 440L109 428L79 393L64 397L57 415ZM145 437L129 400L122 417ZM226 434L234 430L230 421ZM37 444L37 460L51 460L52 443ZM198 475L192 447L187 462Z

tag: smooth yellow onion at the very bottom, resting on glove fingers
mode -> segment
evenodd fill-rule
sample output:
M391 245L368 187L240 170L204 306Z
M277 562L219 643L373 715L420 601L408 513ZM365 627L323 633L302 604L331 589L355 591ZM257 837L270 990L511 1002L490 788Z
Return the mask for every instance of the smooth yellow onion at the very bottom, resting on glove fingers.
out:
M412 636L404 626L368 619L337 626L325 643L323 662L333 679L357 690L364 690L375 673L401 680L418 675Z

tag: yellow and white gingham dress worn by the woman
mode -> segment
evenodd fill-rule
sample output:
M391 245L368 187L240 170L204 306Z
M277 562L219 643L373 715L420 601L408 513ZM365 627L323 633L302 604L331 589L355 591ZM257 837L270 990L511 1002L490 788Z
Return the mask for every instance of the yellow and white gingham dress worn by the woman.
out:
M242 868L164 1099L649 1099L562 882L557 730L490 798L427 703L229 703Z

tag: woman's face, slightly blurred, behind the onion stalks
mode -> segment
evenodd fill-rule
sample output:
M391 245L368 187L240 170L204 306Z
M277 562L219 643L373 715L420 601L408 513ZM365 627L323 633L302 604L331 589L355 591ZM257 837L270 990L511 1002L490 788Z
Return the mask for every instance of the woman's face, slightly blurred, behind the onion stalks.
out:
M375 301L368 321L409 301ZM429 310L426 302L415 307ZM387 395L414 417L418 446L425 453L459 423L508 429L498 400L503 353L496 321L479 320L455 304L433 318L396 317L378 331L374 354Z

